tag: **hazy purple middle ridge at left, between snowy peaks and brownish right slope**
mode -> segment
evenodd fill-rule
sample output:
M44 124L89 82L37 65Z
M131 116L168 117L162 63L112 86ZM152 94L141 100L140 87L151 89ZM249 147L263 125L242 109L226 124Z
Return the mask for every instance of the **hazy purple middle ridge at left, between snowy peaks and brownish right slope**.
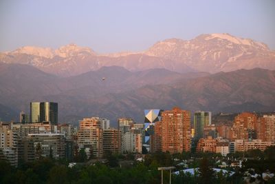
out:
M119 93L157 83L205 76L207 73L179 74L165 69L152 69L130 72L122 67L103 67L100 70L62 78L47 74L30 65L0 64L0 101L3 105L18 112L29 112L30 101L56 101L60 103L61 116L63 105L85 111L85 105L108 93ZM102 80L104 78L104 80ZM70 112L71 112L70 111Z

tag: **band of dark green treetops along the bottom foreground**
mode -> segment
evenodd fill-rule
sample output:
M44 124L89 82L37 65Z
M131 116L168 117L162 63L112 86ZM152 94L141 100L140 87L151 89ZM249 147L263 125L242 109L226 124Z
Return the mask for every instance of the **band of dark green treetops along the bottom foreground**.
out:
M272 158L270 150L264 152L265 158ZM248 168L254 168L256 173L262 173L266 170L275 172L274 160L262 159L248 160L243 163L241 172L235 170L234 176L228 176L222 172L214 173L211 167L214 163L216 154L199 153L203 159L194 159L192 161L195 167L199 167L199 171L195 175L172 174L172 183L242 183L242 173ZM253 151L248 154L259 156L259 151ZM80 155L80 153L79 153ZM175 165L174 159L188 159L192 156L190 152L183 152L181 154L169 154L168 152L157 152L155 154L146 154L144 162L134 162L131 167L119 167L117 165L118 158L124 156L105 154L109 160L109 166L101 163L96 165L85 165L83 163L77 164L72 168L67 167L68 163L65 160L54 160L50 158L41 158L40 160L25 163L17 168L11 167L5 161L0 161L0 183L108 183L108 184L146 184L146 183L161 183L161 172L157 170L158 167ZM128 157L133 156L129 154ZM191 164L190 164L191 165ZM189 165L189 166L190 166ZM111 167L110 167L111 166ZM190 166L192 167L192 166ZM274 182L274 178L267 183ZM164 171L164 183L169 183L169 172ZM262 181L263 183L263 181Z

